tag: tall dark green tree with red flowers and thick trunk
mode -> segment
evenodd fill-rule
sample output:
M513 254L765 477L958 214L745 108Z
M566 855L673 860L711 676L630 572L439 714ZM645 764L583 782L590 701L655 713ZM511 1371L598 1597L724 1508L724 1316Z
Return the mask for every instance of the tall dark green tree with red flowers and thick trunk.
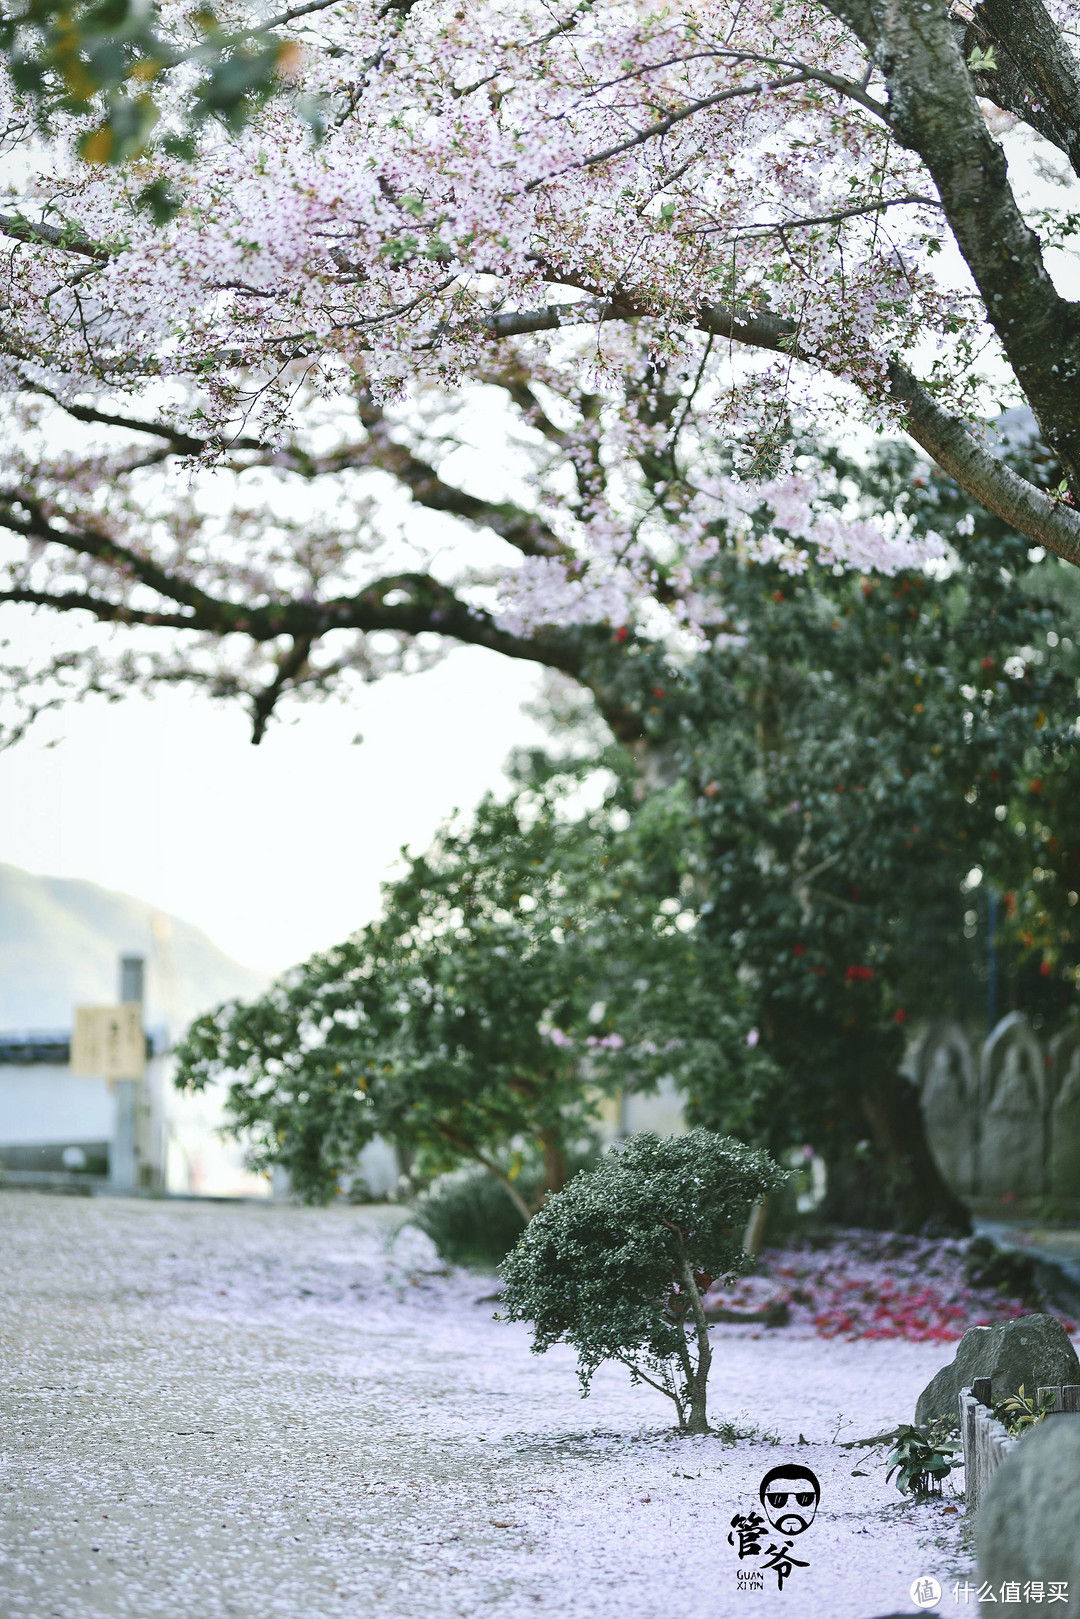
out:
M910 450L839 470L845 499L938 529L950 563L793 576L722 552L729 633L677 657L640 638L617 695L672 784L670 858L737 984L725 1005L784 1077L763 1072L738 1115L729 1064L714 1091L706 1057L680 1075L693 1117L777 1154L811 1145L832 1217L918 1230L965 1214L899 1075L912 1020L986 1015L994 928L999 1012L1074 996L1080 601L1065 565Z

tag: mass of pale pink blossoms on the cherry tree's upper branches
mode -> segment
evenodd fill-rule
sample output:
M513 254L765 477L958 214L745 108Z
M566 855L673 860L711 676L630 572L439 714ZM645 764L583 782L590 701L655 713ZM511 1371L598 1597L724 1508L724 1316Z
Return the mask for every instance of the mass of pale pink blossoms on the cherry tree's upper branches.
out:
M894 363L938 368L938 397L965 411L970 356L994 342L955 256L939 270L933 183L894 139L881 76L829 8L301 10L291 71L296 94L324 112L321 141L279 97L241 134L210 134L194 165L151 155L94 168L63 139L15 142L0 210L52 238L10 241L3 256L8 397L165 419L199 440L191 466L235 470L240 444L261 447L264 466L267 450L288 461L325 402L363 392L402 406L492 377L508 389L517 368L576 400L563 434L578 447L593 436L597 476L573 500L549 466L534 481L554 542L487 575L512 633L627 623L659 578L674 623L716 627L722 604L703 578L721 542L792 570L816 552L895 572L941 550L902 520L845 510L785 452L808 421L897 431ZM1075 24L1074 3L1056 10ZM183 26L185 15L170 0L167 19ZM0 125L21 128L5 83L0 97ZM165 227L138 206L162 176L183 198ZM628 385L643 355L678 379L678 444L670 413L649 423ZM580 408L589 390L591 416ZM674 471L643 481L641 458L661 439ZM573 458L573 445L560 453ZM154 473L149 521L146 505L131 510L130 470L154 463L134 450L120 470L115 455L76 460L53 458L45 482L170 567L238 599L311 578L280 523L272 542L244 549L244 521L230 520L228 546L210 554L175 478ZM6 487L44 476L16 450L3 471ZM358 538L368 526L368 515L330 525L316 594L327 580L340 589L369 555ZM76 572L92 583L108 565L83 559Z

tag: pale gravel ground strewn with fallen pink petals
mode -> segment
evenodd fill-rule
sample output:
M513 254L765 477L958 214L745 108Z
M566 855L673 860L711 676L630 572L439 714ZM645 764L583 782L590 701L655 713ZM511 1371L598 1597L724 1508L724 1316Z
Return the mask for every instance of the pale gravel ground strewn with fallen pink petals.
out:
M779 1443L678 1439L620 1370L581 1402L491 1285L377 1211L0 1193L0 1614L870 1619L963 1569L949 1496L832 1443L910 1420L949 1345L729 1328L712 1420ZM730 1519L787 1462L808 1567L740 1591Z

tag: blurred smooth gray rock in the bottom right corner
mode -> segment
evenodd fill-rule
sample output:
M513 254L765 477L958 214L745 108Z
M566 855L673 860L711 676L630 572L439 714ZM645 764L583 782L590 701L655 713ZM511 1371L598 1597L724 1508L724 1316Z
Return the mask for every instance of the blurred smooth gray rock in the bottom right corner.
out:
M1001 1464L975 1522L978 1572L1001 1603L1006 1580L1069 1580L1080 1595L1080 1417L1049 1417ZM1020 1591L1023 1595L1023 1590ZM1015 1609L1017 1613L1020 1608ZM1025 1613L1030 1608L1023 1606Z

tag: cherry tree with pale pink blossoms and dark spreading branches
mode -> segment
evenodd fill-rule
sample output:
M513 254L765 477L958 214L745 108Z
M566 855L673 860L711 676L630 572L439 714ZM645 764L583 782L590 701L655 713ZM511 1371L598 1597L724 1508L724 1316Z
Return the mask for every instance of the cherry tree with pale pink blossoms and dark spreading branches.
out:
M42 682L13 665L29 711L196 680L257 738L283 695L447 638L602 688L625 625L725 633L721 544L792 570L933 554L792 460L811 423L907 431L1080 560L1080 334L1051 275L1075 11L342 0L280 29L322 139L274 99L194 165L170 147L183 70L126 167L78 159L63 108L31 139L5 87L0 602L133 630L120 659L74 633ZM494 497L444 468L476 389L505 406L487 471L507 432L528 463ZM1049 484L981 431L1002 400L1035 413ZM372 505L387 478L427 555ZM463 531L483 560L436 567Z

